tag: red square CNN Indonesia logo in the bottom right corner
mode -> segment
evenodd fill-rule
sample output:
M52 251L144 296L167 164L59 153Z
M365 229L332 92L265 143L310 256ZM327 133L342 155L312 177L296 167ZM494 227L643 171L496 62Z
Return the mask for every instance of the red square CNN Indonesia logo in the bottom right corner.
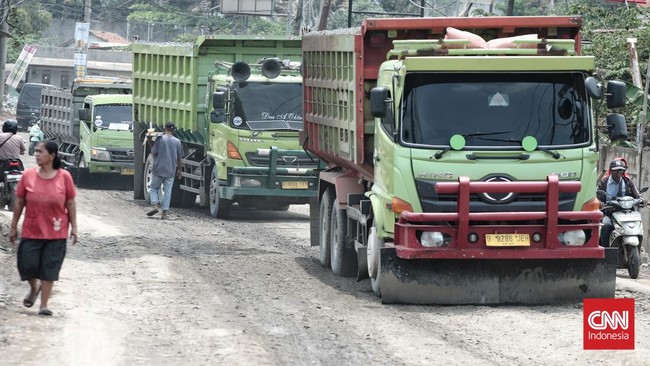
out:
M584 349L634 349L634 299L584 299Z

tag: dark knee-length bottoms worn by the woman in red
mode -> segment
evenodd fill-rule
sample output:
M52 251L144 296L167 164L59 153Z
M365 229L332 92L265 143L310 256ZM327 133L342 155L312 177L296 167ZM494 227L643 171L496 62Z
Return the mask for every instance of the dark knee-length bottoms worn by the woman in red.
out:
M22 239L17 255L20 279L58 281L65 251L66 239Z

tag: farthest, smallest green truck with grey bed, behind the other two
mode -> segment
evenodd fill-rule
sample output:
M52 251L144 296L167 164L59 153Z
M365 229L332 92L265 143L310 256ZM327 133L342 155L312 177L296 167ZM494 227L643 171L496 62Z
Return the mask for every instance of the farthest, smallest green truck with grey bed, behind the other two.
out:
M77 184L121 187L133 180L133 122L130 80L86 78L70 89L44 88L41 122ZM119 186L119 187L118 187Z

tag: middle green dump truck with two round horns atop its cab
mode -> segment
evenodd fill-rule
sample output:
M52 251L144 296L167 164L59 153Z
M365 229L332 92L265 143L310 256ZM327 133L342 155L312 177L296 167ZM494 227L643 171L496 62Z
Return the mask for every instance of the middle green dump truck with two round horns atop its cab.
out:
M149 129L176 124L182 178L172 205L287 210L316 196L318 160L302 130L301 40L199 37L193 44L133 45L134 197L149 200ZM316 206L316 205L314 205Z

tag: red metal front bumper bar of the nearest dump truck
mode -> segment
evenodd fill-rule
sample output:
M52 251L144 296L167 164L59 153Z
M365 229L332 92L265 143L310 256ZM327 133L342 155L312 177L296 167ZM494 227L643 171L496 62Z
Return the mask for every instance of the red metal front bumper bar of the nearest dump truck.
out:
M403 259L602 259L600 211L558 211L559 192L577 192L580 182L438 183L439 193L457 193L458 211L402 212L395 223L395 250ZM544 192L545 212L469 212L470 193ZM576 241L571 238L579 238Z

